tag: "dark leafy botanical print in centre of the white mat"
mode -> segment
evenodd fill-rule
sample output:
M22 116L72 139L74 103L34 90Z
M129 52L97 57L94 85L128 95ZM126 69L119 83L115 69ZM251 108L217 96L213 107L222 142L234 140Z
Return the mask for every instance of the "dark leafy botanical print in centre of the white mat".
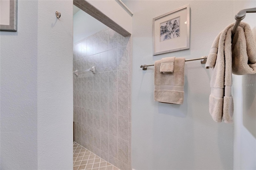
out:
M160 24L160 42L180 37L180 16Z

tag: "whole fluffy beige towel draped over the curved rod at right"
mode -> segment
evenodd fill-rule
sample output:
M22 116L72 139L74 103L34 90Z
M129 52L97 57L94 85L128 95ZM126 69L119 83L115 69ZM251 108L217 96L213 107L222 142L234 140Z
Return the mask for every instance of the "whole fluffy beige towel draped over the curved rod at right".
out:
M256 73L256 43L250 26L242 22L232 39L233 26L230 24L215 38L205 65L212 68L209 111L216 122L233 122L232 72Z

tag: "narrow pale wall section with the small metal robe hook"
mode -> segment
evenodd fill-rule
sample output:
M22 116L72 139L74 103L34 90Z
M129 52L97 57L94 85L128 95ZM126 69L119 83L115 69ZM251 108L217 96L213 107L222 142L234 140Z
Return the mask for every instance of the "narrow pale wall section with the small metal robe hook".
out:
M72 4L38 1L38 169L73 168Z

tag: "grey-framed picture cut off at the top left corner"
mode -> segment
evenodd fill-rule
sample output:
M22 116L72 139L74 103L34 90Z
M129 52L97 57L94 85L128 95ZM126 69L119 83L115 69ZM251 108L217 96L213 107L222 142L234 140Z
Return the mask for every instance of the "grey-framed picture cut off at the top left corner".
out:
M0 30L17 31L17 0L0 0Z

